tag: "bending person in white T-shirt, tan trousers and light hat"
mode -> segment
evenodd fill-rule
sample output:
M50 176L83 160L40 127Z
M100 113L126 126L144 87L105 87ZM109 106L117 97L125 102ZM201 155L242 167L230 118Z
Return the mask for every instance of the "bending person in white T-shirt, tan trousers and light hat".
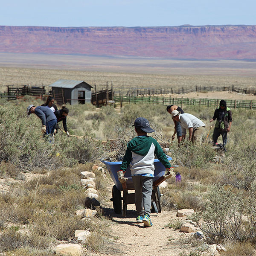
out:
M189 141L195 144L202 143L202 136L205 130L204 122L192 114L182 114L177 110L172 111L172 119L176 122L180 122L182 140L186 137L186 130L189 130Z

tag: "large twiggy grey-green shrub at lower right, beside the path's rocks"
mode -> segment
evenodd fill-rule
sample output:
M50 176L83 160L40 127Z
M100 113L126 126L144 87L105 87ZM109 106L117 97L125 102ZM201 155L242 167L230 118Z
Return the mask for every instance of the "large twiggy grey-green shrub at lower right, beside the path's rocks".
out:
M194 215L197 223L203 218L204 224L200 228L207 233L212 241L223 239L242 239L241 226L244 214L244 196L240 191L224 188L220 185L212 186L206 195L204 211ZM199 225L200 226L200 225Z

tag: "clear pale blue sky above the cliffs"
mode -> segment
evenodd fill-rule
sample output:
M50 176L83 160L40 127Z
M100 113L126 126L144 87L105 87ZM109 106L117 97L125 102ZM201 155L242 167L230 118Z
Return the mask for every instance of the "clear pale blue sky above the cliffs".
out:
M256 25L256 0L9 0L0 26Z

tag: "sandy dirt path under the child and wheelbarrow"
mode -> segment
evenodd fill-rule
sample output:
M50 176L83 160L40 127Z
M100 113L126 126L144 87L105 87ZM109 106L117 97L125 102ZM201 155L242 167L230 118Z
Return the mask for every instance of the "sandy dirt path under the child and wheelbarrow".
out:
M111 204L108 207L105 208L105 212L112 218L111 236L117 237L114 247L119 252L100 255L179 256L180 253L189 253L193 250L188 242L192 234L181 233L167 227L170 222L178 220L177 211L151 213L153 227L144 227L143 223L137 223L135 220L135 204L128 205L126 217L116 214ZM182 220L185 223L186 217Z

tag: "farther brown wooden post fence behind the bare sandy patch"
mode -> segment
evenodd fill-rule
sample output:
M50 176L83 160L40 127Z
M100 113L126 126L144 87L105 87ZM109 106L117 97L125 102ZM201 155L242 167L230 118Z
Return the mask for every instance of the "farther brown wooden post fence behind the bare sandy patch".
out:
M184 94L191 92L206 93L209 91L233 91L256 95L256 88L239 88L236 86L195 86L195 87L170 87L170 88L129 88L125 96L154 96L159 94Z

